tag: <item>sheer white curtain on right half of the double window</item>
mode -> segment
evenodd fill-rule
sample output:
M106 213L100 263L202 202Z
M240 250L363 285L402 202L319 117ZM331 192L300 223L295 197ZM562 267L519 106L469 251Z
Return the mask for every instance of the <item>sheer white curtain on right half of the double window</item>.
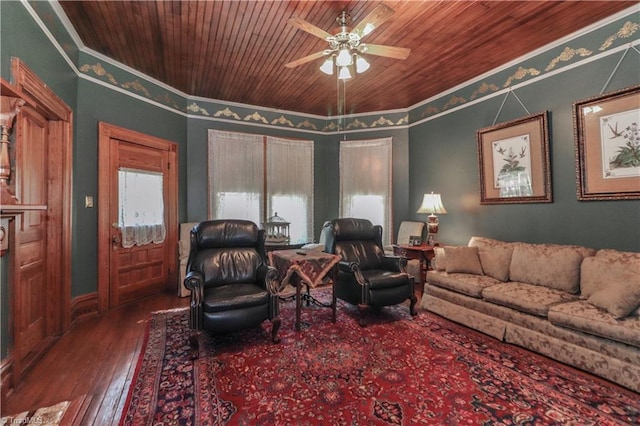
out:
M290 222L292 242L313 240L313 141L267 137L267 216Z

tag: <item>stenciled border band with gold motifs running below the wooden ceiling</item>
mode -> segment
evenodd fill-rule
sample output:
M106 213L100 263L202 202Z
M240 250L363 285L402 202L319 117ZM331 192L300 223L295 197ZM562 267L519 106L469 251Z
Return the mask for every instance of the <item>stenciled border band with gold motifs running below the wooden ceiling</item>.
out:
M634 7L409 108L323 117L189 96L84 46L56 1L23 4L80 78L189 118L319 134L411 127L640 44L640 8Z

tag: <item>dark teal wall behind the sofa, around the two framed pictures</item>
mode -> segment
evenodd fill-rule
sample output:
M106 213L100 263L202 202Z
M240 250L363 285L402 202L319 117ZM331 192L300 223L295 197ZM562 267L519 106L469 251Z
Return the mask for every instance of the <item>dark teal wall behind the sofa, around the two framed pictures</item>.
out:
M448 214L439 240L465 244L473 235L507 241L640 250L640 201L578 201L572 103L598 95L622 52L515 89L530 113L550 112L553 203L480 205L476 130L493 124L504 95L444 115L409 131L411 211L422 194L440 192ZM640 62L629 52L606 92L638 84ZM528 115L511 94L497 123ZM424 220L424 215L411 214Z

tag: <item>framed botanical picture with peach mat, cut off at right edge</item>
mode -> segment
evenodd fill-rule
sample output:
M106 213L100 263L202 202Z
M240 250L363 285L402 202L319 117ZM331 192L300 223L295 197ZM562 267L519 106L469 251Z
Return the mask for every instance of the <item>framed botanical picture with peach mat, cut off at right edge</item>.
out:
M578 200L640 199L640 86L574 102Z

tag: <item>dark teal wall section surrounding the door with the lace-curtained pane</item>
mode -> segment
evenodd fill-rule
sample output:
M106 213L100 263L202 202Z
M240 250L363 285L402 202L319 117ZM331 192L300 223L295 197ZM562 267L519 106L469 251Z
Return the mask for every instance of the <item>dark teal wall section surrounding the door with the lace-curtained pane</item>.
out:
M78 81L73 164L73 248L71 295L97 291L98 123L168 139L178 144L179 218L186 216L186 117L84 79ZM84 197L94 197L94 208Z

